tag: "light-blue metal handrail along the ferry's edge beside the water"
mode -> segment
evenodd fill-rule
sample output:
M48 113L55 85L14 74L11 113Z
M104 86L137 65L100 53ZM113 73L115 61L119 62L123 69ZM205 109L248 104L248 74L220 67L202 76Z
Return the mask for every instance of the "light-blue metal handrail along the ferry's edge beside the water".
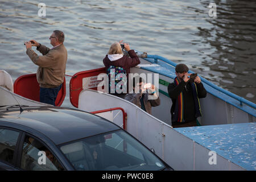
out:
M158 55L147 55L147 58L149 58L149 59L154 59L154 60L155 60L154 63L156 63L156 64L158 63L158 60L162 60L162 61L164 61L165 63L171 64L171 65L174 66L174 67L176 67L176 65L177 65L176 63L174 63L174 62L172 62L172 61L170 61L170 60L168 60L168 59L166 59L166 58L164 58L164 57L162 57L162 56L158 56ZM189 71L189 73L193 73L193 72L192 72L192 71ZM243 97L237 96L236 94L233 94L233 93L229 92L228 90L222 89L222 88L220 88L219 86L214 85L212 82L206 80L205 78L203 78L203 77L201 77L201 76L200 76L200 78L201 78L202 81L204 81L206 84L208 84L208 85L211 86L212 88L214 88L214 89L216 89L216 90L218 90L218 91L220 91L220 92L222 92L222 93L225 93L225 94L227 94L228 96L230 96L230 97L232 97L232 98L234 98L234 99L240 101L240 105L241 105L241 106L242 106L242 103L244 103L244 104L247 104L247 105L249 105L250 107L253 107L254 109L256 109L256 104L254 104L253 102L250 102L250 101L246 100L246 99L243 98Z

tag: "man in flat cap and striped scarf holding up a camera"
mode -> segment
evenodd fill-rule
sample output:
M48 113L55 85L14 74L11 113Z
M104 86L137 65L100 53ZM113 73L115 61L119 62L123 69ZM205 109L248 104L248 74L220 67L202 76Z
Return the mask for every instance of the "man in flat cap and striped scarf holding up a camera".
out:
M185 64L177 64L174 82L168 85L172 99L172 127L196 126L196 118L201 116L199 98L207 96L207 91L196 73L188 73Z

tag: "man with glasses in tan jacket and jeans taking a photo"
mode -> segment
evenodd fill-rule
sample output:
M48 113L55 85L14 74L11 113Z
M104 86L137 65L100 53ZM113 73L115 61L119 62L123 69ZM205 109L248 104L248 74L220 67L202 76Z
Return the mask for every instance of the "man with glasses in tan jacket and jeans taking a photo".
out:
M26 42L27 55L33 63L39 66L36 79L40 86L40 102L55 106L55 100L64 81L65 68L68 58L67 49L63 45L64 33L59 30L53 31L49 37L53 48L41 45L35 40ZM38 56L32 46L43 54Z

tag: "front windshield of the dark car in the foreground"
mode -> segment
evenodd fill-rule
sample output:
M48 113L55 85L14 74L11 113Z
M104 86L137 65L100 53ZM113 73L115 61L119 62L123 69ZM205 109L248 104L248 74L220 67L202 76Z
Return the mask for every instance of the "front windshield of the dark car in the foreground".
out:
M76 170L150 171L165 168L148 148L122 130L60 147Z

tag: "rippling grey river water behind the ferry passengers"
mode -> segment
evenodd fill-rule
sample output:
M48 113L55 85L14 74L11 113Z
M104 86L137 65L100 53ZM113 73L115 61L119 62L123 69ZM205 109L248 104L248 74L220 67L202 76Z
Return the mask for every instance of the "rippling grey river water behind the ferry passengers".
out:
M124 40L138 51L187 64L214 84L256 101L255 1L43 2L46 16L39 17L40 1L0 0L0 69L13 81L38 68L23 43L35 39L52 47L49 36L61 30L68 75L103 67L110 44ZM208 14L210 2L216 3L216 18ZM68 97L64 106L70 105Z

